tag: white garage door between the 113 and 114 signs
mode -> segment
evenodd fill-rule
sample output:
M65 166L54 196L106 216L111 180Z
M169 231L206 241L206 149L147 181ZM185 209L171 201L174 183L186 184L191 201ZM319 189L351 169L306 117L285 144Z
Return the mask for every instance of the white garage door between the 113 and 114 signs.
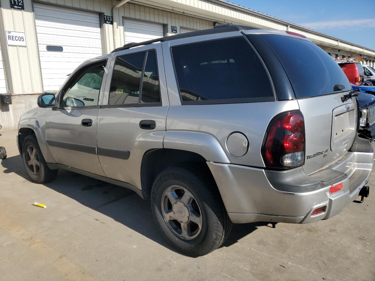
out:
M163 37L163 25L133 19L123 19L124 36L126 43L139 43Z

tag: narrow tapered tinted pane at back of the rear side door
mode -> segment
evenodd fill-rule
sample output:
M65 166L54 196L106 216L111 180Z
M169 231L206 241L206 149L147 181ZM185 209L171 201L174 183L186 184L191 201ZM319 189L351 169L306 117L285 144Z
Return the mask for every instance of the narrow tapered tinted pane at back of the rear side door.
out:
M148 51L142 82L141 103L160 102L159 75L156 53Z

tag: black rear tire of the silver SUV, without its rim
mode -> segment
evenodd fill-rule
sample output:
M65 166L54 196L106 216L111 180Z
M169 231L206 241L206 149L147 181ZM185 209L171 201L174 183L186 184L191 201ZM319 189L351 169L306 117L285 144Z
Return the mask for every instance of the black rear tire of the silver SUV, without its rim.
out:
M204 256L216 250L228 238L232 229L232 222L216 183L210 177L202 175L201 171L202 169L195 169L191 165L168 167L156 177L151 191L151 209L162 235L174 248L193 257ZM185 188L195 197L199 206L202 226L193 239L186 240L176 235L164 219L162 198L165 197L164 191L171 186Z

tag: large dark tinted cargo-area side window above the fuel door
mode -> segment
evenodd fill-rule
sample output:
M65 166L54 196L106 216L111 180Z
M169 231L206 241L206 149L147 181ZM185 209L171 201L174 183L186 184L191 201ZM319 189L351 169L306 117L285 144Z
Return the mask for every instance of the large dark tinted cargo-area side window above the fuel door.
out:
M183 102L273 98L266 71L243 38L178 46L172 55Z

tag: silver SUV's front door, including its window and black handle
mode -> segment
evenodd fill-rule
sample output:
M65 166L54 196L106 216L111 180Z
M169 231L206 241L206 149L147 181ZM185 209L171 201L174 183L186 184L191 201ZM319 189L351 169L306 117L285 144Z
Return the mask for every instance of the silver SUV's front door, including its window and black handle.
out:
M46 140L59 164L105 176L96 148L96 130L107 59L77 70L46 117ZM55 108L54 108L55 109Z

